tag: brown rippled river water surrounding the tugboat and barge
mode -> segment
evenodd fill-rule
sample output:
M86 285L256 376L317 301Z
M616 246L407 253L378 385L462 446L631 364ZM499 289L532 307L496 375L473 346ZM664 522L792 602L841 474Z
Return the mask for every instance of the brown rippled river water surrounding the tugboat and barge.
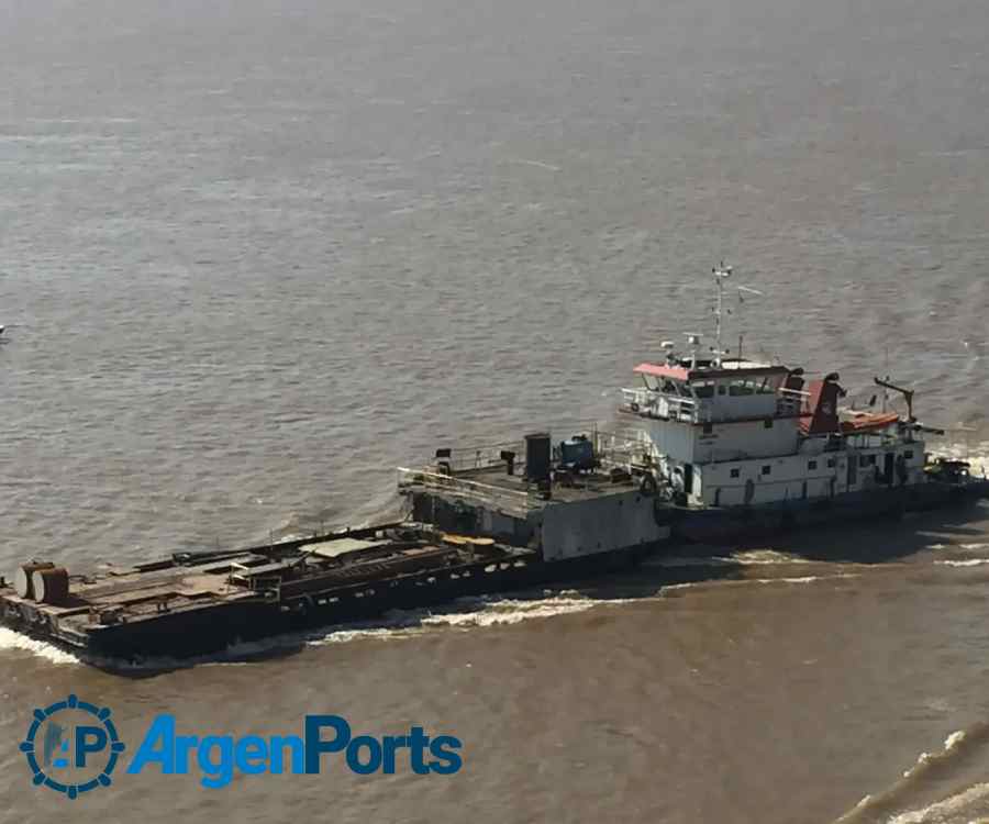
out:
M608 421L722 258L733 346L889 372L986 459L987 43L973 0L0 0L3 571L366 522L436 446ZM0 817L989 821L989 510L713 554L125 675L0 631ZM16 744L69 691L132 746L324 712L465 766L68 802Z

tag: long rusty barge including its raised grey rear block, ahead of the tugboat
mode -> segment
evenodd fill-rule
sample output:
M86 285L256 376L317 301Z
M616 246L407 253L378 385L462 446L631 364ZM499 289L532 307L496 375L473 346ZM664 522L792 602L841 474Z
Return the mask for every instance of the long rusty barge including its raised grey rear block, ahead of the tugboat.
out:
M526 474L502 469L500 487L455 478L445 461L402 470L412 517L429 511L429 522L175 553L91 575L24 564L13 586L0 579L0 623L97 658L181 659L390 610L607 572L669 537L656 501L627 475L589 466L579 482L554 479L549 436L530 436L527 444ZM457 524L468 534L452 532Z

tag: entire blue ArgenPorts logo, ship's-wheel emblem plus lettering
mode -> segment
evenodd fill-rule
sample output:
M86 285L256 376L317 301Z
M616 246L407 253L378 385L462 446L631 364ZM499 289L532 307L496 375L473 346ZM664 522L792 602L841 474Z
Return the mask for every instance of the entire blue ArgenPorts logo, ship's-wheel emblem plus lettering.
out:
M355 735L340 715L305 715L302 735L196 735L180 731L174 715L156 715L127 764L126 775L145 770L160 776L199 772L200 783L221 789L237 775L320 775L323 767L360 776L410 771L452 776L463 767L462 743L452 735L429 736L421 726L403 735ZM34 783L75 799L109 787L125 749L110 710L69 695L35 710L21 751ZM325 757L325 758L324 758Z

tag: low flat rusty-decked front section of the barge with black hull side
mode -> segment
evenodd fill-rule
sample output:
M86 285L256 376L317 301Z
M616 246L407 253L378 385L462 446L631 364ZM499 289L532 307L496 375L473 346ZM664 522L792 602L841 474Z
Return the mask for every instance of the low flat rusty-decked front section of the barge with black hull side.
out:
M241 550L177 553L88 576L65 574L67 592L47 602L4 586L0 620L92 655L182 658L491 591L524 577L535 560L537 554L524 547L385 524Z

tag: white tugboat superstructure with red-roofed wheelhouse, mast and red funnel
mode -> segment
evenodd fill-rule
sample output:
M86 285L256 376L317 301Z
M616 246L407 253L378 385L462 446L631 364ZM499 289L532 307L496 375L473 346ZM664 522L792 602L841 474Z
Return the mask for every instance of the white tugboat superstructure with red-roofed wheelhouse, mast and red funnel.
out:
M802 369L723 357L715 269L713 357L675 354L634 371L621 411L641 434L647 483L701 506L773 504L921 483L924 430L892 412L845 412L837 375L804 381Z

